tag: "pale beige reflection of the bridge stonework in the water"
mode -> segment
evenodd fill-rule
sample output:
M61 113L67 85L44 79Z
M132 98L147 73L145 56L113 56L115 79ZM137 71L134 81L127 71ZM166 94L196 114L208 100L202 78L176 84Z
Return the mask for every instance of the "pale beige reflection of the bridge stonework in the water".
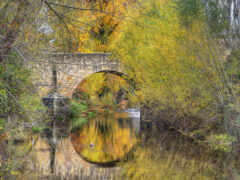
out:
M51 175L50 147L46 140L39 138L33 155L36 158L35 173L42 177ZM70 138L60 140L56 148L55 179L114 179L118 176L119 167L99 167L83 160L74 150Z

